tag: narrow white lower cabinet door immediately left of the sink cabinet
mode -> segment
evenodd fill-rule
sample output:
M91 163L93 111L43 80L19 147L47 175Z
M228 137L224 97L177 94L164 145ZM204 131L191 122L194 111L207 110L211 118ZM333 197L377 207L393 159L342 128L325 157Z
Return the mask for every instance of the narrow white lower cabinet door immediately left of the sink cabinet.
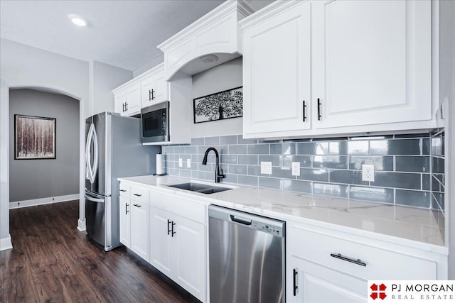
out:
M131 249L149 261L149 205L132 200Z

